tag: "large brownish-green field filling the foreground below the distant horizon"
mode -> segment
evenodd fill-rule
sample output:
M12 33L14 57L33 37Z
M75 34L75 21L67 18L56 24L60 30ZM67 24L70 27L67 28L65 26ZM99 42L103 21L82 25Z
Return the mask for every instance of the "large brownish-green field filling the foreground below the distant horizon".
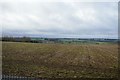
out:
M2 43L3 74L47 78L117 77L116 44Z

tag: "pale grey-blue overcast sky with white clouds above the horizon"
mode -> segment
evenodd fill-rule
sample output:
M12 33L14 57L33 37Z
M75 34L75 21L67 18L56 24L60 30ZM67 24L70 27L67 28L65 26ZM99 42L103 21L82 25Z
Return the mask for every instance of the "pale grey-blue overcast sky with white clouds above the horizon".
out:
M117 38L117 2L0 3L3 35Z

